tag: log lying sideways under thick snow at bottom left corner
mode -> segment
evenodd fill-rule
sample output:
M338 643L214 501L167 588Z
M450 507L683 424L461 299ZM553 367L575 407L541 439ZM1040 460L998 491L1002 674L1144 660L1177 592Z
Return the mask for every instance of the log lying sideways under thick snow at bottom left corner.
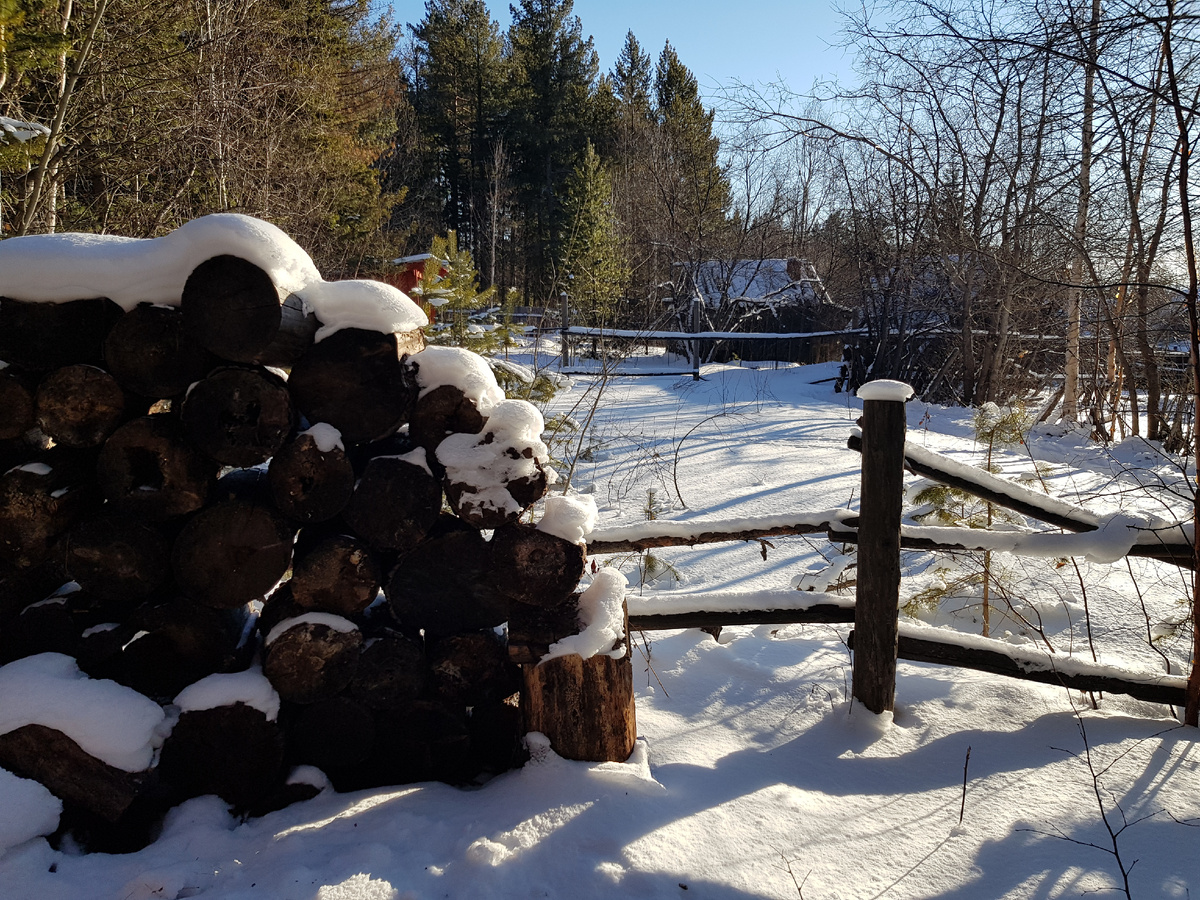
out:
M124 772L97 760L44 725L23 725L0 734L0 768L38 781L55 797L109 822L121 817L148 779L146 773Z

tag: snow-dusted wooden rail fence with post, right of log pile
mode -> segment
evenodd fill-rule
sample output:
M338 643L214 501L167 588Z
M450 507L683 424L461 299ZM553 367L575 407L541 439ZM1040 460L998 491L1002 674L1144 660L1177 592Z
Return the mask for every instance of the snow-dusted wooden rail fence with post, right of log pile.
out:
M696 604L715 608L630 611L632 630L716 628L743 624L853 624L848 643L853 649L853 696L872 712L894 708L896 660L936 662L973 668L1084 691L1124 694L1153 703L1187 707L1188 724L1200 691L1200 667L1193 661L1190 678L1165 673L1115 672L1086 660L1014 648L1002 641L970 637L937 640L930 630L899 622L900 552L902 548L943 551L1007 550L1040 556L1082 552L1084 535L1105 527L1100 517L1082 508L1030 491L983 470L972 470L919 446L906 445L905 403L896 383L864 385L862 431L851 434L848 446L863 454L860 511L828 510L809 516L775 517L743 522L738 530L721 523L655 522L655 533L637 529L594 532L589 554L642 551L667 546L695 546L720 541L767 541L788 534L824 534L830 541L858 544L856 595L848 598L814 592L767 592L734 595L716 602ZM904 385L906 386L906 385ZM1069 534L1034 535L983 532L973 528L928 528L901 524L902 475L907 468L942 484L958 487L1026 516L1057 526ZM746 527L749 524L750 527ZM1021 541L1025 541L1022 545ZM1073 545L1072 541L1075 541ZM1044 546L1034 546L1040 541ZM1039 552L1042 551L1042 552ZM1062 551L1062 552L1058 552ZM766 548L764 548L766 552ZM1139 532L1128 556L1162 559L1194 568L1192 526L1175 523Z

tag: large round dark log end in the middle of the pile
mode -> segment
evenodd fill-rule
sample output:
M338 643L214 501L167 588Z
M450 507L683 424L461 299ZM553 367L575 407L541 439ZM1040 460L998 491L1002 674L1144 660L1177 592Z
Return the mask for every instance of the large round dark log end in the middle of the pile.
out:
M224 500L197 512L172 548L179 588L197 602L234 608L266 596L292 564L295 530L274 508Z

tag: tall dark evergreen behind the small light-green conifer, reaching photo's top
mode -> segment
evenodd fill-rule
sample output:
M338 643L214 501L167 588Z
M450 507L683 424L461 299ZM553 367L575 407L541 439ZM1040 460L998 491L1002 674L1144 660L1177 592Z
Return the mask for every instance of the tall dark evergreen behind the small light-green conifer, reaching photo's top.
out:
M583 40L571 0L520 0L509 30L509 138L523 212L524 295L557 294L560 203L568 174L584 154L594 122L599 61Z

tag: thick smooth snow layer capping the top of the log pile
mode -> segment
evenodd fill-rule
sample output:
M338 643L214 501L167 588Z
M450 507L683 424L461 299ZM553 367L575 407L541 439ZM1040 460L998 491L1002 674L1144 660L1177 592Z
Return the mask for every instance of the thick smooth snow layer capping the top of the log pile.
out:
M10 238L0 241L0 296L52 304L107 296L126 311L143 302L179 306L192 270L222 254L253 263L281 293L296 294L322 323L318 341L343 328L401 332L428 324L402 290L377 281L326 282L280 228L236 212L193 218L162 238Z

